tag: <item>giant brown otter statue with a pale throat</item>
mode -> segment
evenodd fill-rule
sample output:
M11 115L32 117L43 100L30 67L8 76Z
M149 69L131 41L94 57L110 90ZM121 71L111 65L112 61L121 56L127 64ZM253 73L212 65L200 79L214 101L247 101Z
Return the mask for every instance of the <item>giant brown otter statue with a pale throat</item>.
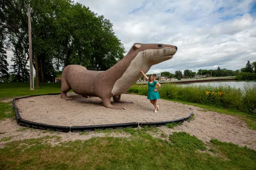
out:
M73 90L76 94L95 96L102 99L106 108L125 109L110 103L132 103L121 101L124 94L139 78L140 70L145 73L151 66L173 58L177 47L167 44L135 43L128 54L106 71L87 70L83 66L68 65L61 74L61 98L70 100L67 92Z

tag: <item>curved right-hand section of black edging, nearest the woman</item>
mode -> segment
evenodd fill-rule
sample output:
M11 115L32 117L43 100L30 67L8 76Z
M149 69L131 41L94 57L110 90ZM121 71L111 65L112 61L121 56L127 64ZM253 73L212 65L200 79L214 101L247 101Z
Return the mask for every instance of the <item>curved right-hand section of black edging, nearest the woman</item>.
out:
M191 110L191 108L189 108ZM188 120L193 114L193 111L191 111L187 117L185 118L178 118L178 119L175 119L175 120L167 120L167 121L160 121L160 122L141 122L139 123L139 126L140 127L146 127L146 126L149 126L149 127L156 127L156 126L165 126L166 123L178 123L178 122L184 122L186 120Z

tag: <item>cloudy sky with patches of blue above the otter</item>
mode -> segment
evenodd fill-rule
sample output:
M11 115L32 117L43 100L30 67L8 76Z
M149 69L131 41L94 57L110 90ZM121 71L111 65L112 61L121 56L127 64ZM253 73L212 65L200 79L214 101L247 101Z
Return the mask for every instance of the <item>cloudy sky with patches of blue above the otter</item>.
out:
M104 15L129 51L133 43L178 47L148 73L245 67L256 60L256 0L76 0Z

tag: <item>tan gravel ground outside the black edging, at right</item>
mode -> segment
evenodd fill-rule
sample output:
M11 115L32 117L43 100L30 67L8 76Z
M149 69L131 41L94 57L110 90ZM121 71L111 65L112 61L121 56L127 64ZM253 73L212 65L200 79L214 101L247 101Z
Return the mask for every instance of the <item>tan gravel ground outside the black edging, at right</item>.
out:
M195 135L198 139L209 142L218 139L221 142L232 142L240 146L248 146L256 150L256 130L248 129L246 122L230 115L212 111L198 111L202 108L191 106L195 119L183 122L181 126L169 129L166 126L159 127L167 135L174 131L185 131Z

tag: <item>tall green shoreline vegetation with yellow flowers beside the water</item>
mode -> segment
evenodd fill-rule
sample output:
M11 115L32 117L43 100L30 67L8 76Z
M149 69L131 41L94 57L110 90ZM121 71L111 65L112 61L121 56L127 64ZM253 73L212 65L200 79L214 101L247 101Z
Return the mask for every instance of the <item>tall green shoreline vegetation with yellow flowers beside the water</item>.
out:
M127 92L147 95L148 87L133 84ZM242 89L230 86L180 86L163 84L159 90L162 99L206 104L245 112L256 117L256 85Z

